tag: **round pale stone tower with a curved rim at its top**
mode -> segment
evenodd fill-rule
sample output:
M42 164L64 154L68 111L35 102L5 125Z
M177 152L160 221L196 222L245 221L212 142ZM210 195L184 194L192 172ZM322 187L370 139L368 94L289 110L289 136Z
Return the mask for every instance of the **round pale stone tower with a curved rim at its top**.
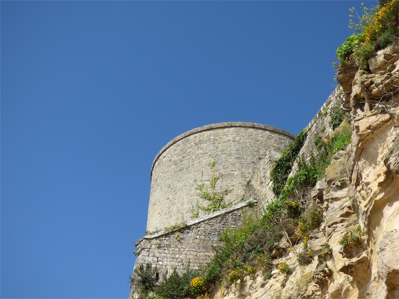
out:
M294 138L277 128L242 122L203 126L178 136L152 165L147 231L192 220L196 206L209 203L199 196L198 184L210 188L213 171L219 177L214 190L230 191L223 202L238 203L266 152L281 153Z

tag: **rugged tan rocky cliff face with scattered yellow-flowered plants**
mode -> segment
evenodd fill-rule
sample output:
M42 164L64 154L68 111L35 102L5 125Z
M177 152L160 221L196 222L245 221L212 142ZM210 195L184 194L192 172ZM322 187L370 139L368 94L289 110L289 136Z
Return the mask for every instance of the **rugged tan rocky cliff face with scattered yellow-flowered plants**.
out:
M281 240L276 249L286 253L273 263L285 262L287 272L217 286L211 298L399 298L399 44L369 66L348 63L338 73L342 91L334 97L350 113L352 142L307 198L323 210L308 241L311 262L299 263L300 240ZM315 135L302 153L312 150Z

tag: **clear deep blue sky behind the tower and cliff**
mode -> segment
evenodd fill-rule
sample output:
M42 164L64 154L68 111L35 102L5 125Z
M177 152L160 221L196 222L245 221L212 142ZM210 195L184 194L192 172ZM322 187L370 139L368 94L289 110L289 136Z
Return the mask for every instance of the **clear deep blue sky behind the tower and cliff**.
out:
M1 298L127 298L157 152L226 121L298 134L353 5L1 1Z

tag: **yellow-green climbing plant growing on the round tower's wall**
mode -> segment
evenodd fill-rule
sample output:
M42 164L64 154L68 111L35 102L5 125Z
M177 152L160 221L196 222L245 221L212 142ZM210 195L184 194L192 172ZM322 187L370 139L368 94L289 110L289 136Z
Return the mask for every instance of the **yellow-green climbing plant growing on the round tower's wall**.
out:
M212 171L209 180L209 185L206 186L205 183L203 182L202 179L203 172L201 172L200 183L195 182L197 185L196 189L200 191L200 193L198 193L198 196L200 196L200 198L207 200L209 203L207 205L199 205L197 201L196 206L192 206L192 213L193 213L192 218L199 217L200 210L203 211L205 214L210 214L212 212L219 211L221 209L224 209L232 205L232 203L227 203L227 204L222 203L224 197L231 191L229 188L223 189L221 191L216 191L216 183L218 182L220 177L215 173L215 165L217 163L215 160L215 156L211 157L212 161L208 164L210 170Z

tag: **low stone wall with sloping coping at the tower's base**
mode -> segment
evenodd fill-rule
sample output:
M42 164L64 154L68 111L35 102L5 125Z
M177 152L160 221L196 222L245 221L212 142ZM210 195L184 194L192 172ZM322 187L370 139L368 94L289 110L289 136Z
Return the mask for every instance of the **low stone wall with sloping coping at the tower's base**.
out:
M220 244L219 237L227 226L235 227L242 222L242 216L256 213L256 202L249 201L189 221L184 227L172 231L160 231L145 236L137 244L138 257L135 269L150 263L158 268L160 278L165 271L197 270L210 261L212 246Z

